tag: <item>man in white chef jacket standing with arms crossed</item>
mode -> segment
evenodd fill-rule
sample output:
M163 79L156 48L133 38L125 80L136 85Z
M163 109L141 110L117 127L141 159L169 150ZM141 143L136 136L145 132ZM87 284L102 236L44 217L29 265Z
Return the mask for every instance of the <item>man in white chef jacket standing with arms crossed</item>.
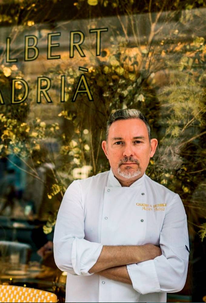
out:
M68 187L54 234L55 262L68 272L66 302L166 302L184 287L183 204L145 175L157 144L140 111L118 110L102 142L111 170Z

